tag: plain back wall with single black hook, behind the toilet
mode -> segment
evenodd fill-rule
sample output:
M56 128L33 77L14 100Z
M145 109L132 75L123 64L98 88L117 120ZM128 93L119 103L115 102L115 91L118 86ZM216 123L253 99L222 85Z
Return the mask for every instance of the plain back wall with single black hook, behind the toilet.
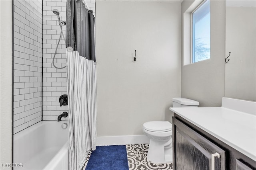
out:
M96 1L98 137L142 135L144 122L171 120L180 96L180 5Z

